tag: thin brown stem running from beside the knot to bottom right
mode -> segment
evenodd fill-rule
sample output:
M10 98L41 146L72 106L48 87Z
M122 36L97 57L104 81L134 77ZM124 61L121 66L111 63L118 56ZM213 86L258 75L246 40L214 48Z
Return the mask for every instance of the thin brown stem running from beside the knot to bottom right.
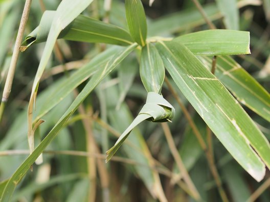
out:
M190 127L194 133L194 135L196 136L196 138L198 139L198 142L202 148L202 150L204 150L205 154L206 154L206 158L208 161L208 165L210 167L210 171L214 177L214 180L216 182L220 197L222 199L222 201L227 202L229 201L225 191L222 188L222 183L221 180L219 178L218 172L217 172L217 168L216 165L214 163L213 158L211 157L211 153L209 152L209 149L207 148L207 145L205 143L205 140L202 138L202 135L200 134L198 128L196 127L196 124L194 123L194 121L191 118L191 115L189 114L188 110L186 109L185 105L182 103L182 100L180 99L180 97L177 95L176 91L173 89L172 85L170 84L169 80L167 77L165 77L165 82L169 88L169 90L171 91L172 95L174 96L174 98L176 99L177 103L179 104L179 106L181 107L185 117L187 118Z

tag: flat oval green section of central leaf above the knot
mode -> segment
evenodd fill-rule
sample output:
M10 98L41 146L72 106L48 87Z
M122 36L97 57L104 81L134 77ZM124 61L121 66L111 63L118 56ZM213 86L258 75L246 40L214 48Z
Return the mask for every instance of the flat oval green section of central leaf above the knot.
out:
M147 92L160 93L165 78L165 68L158 50L151 43L142 48L140 75Z

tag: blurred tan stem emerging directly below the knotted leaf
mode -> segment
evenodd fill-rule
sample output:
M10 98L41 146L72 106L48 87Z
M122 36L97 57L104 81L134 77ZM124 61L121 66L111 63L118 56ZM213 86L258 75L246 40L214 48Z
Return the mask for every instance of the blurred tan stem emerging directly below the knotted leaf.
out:
M171 150L171 154L179 168L179 170L181 171L182 175L183 175L183 179L185 180L185 182L187 183L190 191L192 192L192 196L196 199L196 200L200 200L200 195L199 195L199 192L197 191L195 185L193 184L190 176L189 176L189 173L181 159L181 156L179 155L178 151L177 151L177 148L174 144L174 141L173 141L173 138L172 138L172 134L171 134L171 131L170 131L170 128L168 126L168 123L164 122L164 123L161 123L162 125L162 129L164 131L164 134L165 134L165 137L167 139L167 142L168 142L168 145L169 145L169 148Z

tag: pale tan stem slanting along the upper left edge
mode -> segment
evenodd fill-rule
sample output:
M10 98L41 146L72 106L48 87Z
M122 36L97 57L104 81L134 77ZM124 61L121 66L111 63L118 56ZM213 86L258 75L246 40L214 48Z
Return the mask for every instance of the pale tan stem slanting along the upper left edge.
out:
M26 22L27 22L27 19L29 16L29 12L30 12L31 2L32 2L32 0L26 0L24 11L22 11L18 34L17 34L17 38L15 41L14 50L13 50L13 54L11 57L11 63L10 63L9 70L8 70L7 80L5 83L3 96L2 96L2 100L1 100L1 107L0 108L1 108L2 112L0 112L0 121L2 119L3 111L5 109L4 103L6 103L8 101L8 98L9 98L9 95L11 92L15 69L16 69L16 65L17 65L17 61L18 61L18 57L19 57L19 46L21 44L22 37L24 36L25 26L26 26Z

